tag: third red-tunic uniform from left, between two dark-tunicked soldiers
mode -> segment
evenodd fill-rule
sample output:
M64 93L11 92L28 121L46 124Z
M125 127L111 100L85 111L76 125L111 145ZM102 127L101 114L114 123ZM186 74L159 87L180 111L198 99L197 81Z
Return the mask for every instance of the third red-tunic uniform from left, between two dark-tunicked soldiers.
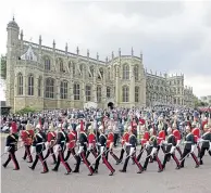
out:
M69 150L67 150L67 154L64 160L67 160L71 154L77 160L76 153L75 153L75 145L76 145L76 133L74 131L71 131L69 133L69 145L67 145Z

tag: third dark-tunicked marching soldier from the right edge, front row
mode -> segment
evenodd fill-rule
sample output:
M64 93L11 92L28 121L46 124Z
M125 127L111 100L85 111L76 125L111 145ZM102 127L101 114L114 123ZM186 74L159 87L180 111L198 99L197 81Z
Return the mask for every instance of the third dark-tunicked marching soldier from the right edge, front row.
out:
M165 151L165 156L164 156L164 160L163 160L163 169L165 168L165 164L167 162L167 157L172 156L172 158L175 160L176 163L176 169L179 169L179 162L175 156L175 149L176 149L176 139L174 137L174 134L172 134L172 128L167 128L167 140L163 142L164 145L166 145L166 151Z

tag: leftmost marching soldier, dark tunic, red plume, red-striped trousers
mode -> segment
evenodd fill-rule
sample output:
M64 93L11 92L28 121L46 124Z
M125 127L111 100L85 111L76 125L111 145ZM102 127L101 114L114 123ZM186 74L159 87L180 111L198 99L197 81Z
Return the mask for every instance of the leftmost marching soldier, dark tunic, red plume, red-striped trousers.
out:
M4 153L9 152L9 156L8 156L7 162L2 165L4 168L8 166L8 164L12 159L15 166L13 170L20 169L17 159L15 156L15 152L17 151L17 142L18 142L18 136L17 136L16 124L12 123L12 126L10 128L10 134L7 137L7 140L5 140Z

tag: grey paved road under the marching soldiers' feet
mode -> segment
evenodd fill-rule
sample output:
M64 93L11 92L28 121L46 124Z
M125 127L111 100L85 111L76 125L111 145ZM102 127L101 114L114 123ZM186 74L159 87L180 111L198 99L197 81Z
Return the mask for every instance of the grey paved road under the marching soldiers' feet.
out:
M1 138L1 151L3 142L4 139ZM187 158L184 169L175 170L175 164L171 160L166 165L165 171L158 173L157 163L152 163L149 164L148 170L140 175L136 173L137 168L131 163L127 173L119 172L123 165L116 166L110 158L116 169L113 177L108 176L109 171L102 164L98 175L88 177L88 169L84 164L78 175L64 176L63 166L58 172L50 171L41 175L40 163L32 171L28 164L21 158L23 151L24 149L21 149L17 152L21 170L13 171L12 163L5 169L1 167L2 193L210 193L211 190L211 157L209 155L204 156L204 165L197 169L193 158ZM159 156L163 159L161 152ZM2 163L5 158L7 156L2 157ZM91 159L92 157L90 157ZM49 158L49 169L53 167L51 162L52 159ZM69 160L69 163L74 168L74 159Z

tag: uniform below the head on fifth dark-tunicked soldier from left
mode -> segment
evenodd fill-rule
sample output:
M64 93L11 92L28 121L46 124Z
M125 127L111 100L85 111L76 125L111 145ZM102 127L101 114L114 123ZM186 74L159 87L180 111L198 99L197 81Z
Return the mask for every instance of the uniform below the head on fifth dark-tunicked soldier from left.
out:
M105 149L105 143L107 143L107 137L101 133L100 137L99 137L99 143L98 143L98 149L99 149L99 154L98 154L98 157L96 159L96 165L95 165L95 172L97 173L98 172L98 167L99 167L99 164L100 164L100 158L102 156L102 160L104 163L104 165L107 166L107 168L111 171L110 172L110 176L112 176L115 170L113 169L113 167L111 166L111 164L108 162L108 159L105 158L105 153L107 153L107 149Z

